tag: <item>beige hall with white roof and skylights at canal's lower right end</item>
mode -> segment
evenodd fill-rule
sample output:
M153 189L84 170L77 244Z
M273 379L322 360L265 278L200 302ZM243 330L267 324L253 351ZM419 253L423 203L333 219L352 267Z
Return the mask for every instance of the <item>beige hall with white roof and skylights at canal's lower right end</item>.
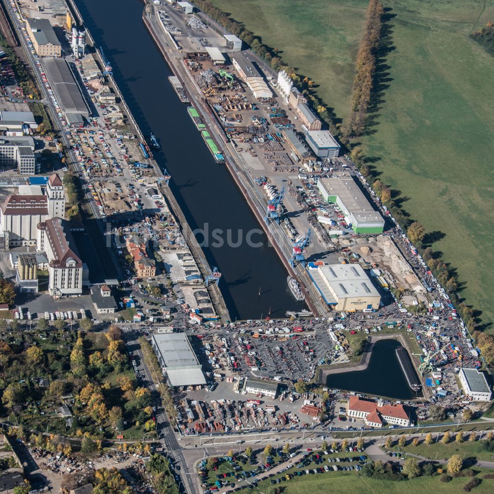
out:
M325 302L335 310L379 308L381 296L359 264L309 266L307 271Z

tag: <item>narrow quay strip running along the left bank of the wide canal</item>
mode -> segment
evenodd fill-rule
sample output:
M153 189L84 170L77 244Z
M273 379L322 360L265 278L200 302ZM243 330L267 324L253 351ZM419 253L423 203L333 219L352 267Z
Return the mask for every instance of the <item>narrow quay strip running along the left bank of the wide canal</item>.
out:
M80 25L82 25L83 24L83 18L82 18L82 15L81 15L77 5L75 4L75 2L73 0L67 0L67 4L68 4L69 8L71 9L75 18L78 19ZM95 49L95 54L96 54L96 57L97 57L100 65L101 65L101 67L105 68L105 66L107 66L108 62L104 58L104 54L100 51L100 49L98 49L98 47L97 47L96 43L94 42L90 32L87 32L87 41L88 41L88 44ZM206 260L206 257L204 255L204 252L201 249L201 247L199 246L196 237L192 233L192 229L190 228L189 224L187 223L187 220L186 220L186 218L182 212L182 209L180 208L179 204L175 200L175 197L173 196L173 194L172 194L172 192L168 186L168 182L169 182L170 177L169 177L169 175L164 174L163 170L160 168L160 166L157 164L156 160L153 158L152 151L149 149L148 143L146 142L146 139L145 139L139 125L135 121L130 109L128 108L128 106L125 102L124 96L122 95L122 92L120 91L120 88L119 88L117 82L113 78L113 75L111 73L106 74L106 77L108 78L108 85L113 89L115 94L119 97L120 106L121 106L123 112L125 113L125 115L127 116L128 121L130 122L133 130L137 134L140 142L143 143L146 146L146 148L148 149L149 158L145 159L145 161L148 163L148 165L150 165L152 167L152 169L154 170L154 173L156 174L157 177L164 178L164 180L159 182L161 192L163 193L173 215L175 216L175 218L178 220L178 223L180 224L182 234L183 234L183 236L187 242L187 246L189 247L189 249L190 249L190 251L194 257L194 260L196 261L196 264L197 264L199 270L201 271L201 275L202 275L203 279L205 280L206 288L207 288L209 297L211 299L211 302L214 305L215 311L218 314L218 316L220 317L221 322L226 323L227 321L230 321L231 318L230 318L230 315L228 313L228 309L226 307L225 301L223 299L223 296L221 295L221 291L218 288L218 285L216 283L209 283L208 282L208 280L211 279L212 274L213 274L211 267L209 266L209 264ZM166 170L165 170L165 173L166 173Z

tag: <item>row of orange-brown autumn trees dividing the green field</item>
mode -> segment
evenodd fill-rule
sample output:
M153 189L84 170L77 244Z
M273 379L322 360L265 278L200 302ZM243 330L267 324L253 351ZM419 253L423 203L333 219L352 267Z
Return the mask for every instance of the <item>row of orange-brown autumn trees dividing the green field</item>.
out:
M355 77L353 79L352 113L348 127L349 131L355 135L362 135L366 128L383 14L384 7L382 3L379 0L370 0L366 11L364 36L357 53Z

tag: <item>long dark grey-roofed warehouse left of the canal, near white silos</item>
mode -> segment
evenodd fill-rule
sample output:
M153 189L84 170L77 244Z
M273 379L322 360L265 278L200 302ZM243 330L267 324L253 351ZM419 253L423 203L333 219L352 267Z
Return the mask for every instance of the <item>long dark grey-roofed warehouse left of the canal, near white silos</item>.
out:
M89 118L89 108L67 62L59 58L46 58L44 65L46 76L67 123L84 124L84 119Z

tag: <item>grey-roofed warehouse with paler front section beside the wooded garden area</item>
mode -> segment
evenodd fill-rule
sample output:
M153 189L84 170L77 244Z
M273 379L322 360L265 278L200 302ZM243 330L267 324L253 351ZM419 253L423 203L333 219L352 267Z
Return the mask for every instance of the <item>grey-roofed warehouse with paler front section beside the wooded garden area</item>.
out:
M153 334L151 344L171 386L206 384L202 366L185 333Z

